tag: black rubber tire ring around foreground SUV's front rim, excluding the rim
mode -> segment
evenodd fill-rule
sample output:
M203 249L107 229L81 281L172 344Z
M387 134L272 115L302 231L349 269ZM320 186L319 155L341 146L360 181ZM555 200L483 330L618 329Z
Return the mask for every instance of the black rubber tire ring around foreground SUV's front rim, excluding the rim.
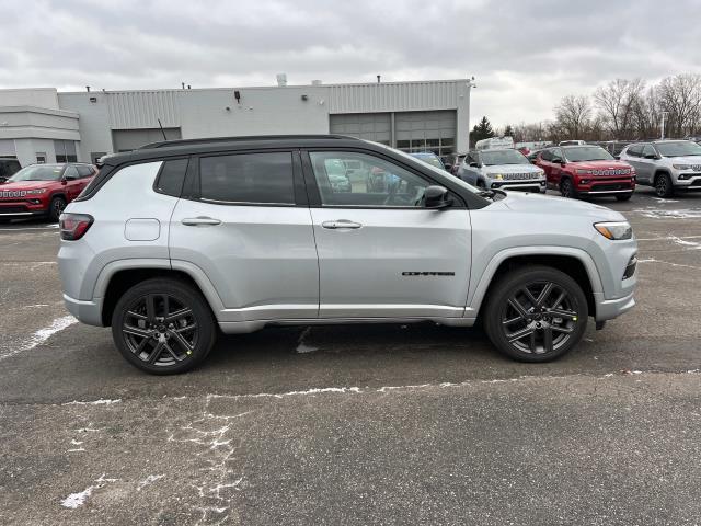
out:
M578 319L570 340L562 347L545 354L528 354L515 348L508 342L502 327L502 315L506 308L506 300L517 287L539 281L552 282L558 286L564 287L572 300L576 304ZM519 362L540 363L559 358L567 354L579 343L587 328L589 312L587 299L582 287L567 274L555 268L547 266L517 268L515 272L502 278L492 290L487 301L484 312L484 328L490 340L502 353Z

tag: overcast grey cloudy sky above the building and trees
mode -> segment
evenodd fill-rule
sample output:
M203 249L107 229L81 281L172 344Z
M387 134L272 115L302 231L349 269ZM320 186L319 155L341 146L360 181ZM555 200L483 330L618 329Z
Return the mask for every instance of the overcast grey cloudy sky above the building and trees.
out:
M701 72L701 0L0 0L0 87L474 76L472 124L550 118L614 78Z

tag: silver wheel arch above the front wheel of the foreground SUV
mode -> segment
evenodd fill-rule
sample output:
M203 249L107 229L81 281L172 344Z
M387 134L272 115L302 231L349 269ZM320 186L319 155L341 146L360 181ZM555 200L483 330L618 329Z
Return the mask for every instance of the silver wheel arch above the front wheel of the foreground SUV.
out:
M571 276L584 290L590 316L596 316L596 294L604 288L594 260L581 249L566 247L528 247L507 249L497 253L482 273L466 316L479 318L491 288L502 276L525 265L551 266Z

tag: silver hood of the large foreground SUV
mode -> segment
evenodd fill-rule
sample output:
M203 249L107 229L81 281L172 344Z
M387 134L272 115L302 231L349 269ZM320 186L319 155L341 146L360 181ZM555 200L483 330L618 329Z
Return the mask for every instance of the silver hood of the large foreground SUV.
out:
M554 197L550 195L509 192L507 197L497 202L514 211L548 214L549 216L590 217L595 221L625 221L616 210L605 206L593 205L584 201Z

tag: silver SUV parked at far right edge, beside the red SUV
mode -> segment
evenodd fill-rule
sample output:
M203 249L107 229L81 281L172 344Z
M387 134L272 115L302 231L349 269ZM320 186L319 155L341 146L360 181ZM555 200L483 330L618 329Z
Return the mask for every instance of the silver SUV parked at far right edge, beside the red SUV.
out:
M659 197L701 190L701 146L691 140L636 142L621 151L621 161L635 168L637 184L653 186Z

